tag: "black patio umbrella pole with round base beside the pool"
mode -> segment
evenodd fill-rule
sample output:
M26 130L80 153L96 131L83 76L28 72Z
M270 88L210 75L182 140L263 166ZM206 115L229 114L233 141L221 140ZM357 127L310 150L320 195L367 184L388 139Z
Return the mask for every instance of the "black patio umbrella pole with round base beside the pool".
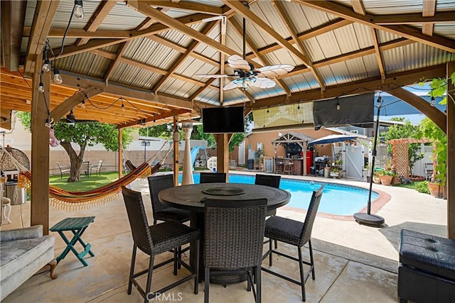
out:
M376 158L376 145L378 143L378 131L379 131L379 114L381 111L381 97L378 97L377 105L378 112L376 116L376 128L375 128L375 142L373 142L373 151L371 153L371 175L370 175L370 191L368 192L368 204L367 204L367 213L355 213L354 219L360 224L367 224L373 226L380 226L384 224L385 220L382 216L377 214L371 214L371 192L373 191L373 174L375 173L375 158Z

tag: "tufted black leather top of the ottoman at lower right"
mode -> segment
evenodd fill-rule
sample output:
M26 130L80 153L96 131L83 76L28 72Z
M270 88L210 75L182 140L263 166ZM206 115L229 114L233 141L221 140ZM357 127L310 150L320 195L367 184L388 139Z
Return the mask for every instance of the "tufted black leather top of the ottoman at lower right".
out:
M400 263L455 280L455 241L403 229Z

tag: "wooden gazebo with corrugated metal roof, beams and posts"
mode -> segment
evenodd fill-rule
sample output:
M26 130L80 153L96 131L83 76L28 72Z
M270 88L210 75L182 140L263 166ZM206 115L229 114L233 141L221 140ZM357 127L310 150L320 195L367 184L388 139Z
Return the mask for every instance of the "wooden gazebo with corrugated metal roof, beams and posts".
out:
M46 119L58 121L73 108L78 119L119 129L172 122L177 131L178 121L208 106L244 106L246 116L284 104L299 109L387 92L437 123L447 133L448 155L455 153L455 103L443 113L405 89L455 72L453 3L201 2L85 0L84 13L73 18L73 1L1 1L0 121L7 124L11 111L32 114L31 224L48 231ZM226 90L236 79L227 64L231 55L245 57L253 70L294 69L271 77L274 87L245 79ZM450 82L448 92L453 101ZM215 135L219 172L228 171L230 136ZM455 161L447 163L453 184ZM449 237L455 238L455 194L449 193L448 213Z

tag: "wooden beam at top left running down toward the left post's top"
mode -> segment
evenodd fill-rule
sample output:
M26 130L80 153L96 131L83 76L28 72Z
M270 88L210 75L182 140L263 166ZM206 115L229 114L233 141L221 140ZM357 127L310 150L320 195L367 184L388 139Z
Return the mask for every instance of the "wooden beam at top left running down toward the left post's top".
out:
M25 63L24 74L26 77L30 76L33 72L33 63L41 63L35 61L36 55L43 54L44 42L48 37L50 27L57 12L58 4L60 1L38 1L36 3L35 14L33 16L33 23L31 25L31 35L28 38L27 57Z

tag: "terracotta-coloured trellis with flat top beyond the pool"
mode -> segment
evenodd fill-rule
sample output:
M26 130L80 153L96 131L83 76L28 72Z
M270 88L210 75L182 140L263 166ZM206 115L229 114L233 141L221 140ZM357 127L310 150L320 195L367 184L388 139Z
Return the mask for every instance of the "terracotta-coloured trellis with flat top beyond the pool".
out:
M407 145L432 142L432 140L427 138L400 138L387 141L387 143L392 144L392 161L397 175L404 177L410 176L410 157Z

